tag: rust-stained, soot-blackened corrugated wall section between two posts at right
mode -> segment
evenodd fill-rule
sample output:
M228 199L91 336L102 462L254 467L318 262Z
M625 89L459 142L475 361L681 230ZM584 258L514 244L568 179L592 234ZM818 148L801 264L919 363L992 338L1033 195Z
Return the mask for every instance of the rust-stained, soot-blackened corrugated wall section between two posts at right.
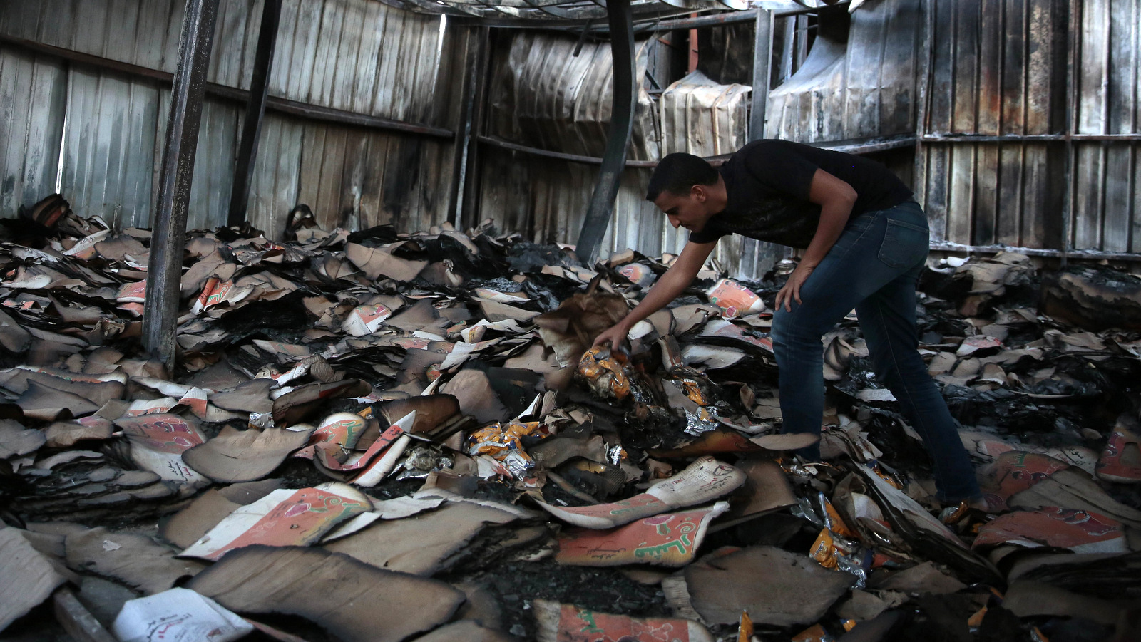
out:
M963 138L1066 131L1065 0L944 0L933 9L920 170L932 239L1060 247L1065 144Z

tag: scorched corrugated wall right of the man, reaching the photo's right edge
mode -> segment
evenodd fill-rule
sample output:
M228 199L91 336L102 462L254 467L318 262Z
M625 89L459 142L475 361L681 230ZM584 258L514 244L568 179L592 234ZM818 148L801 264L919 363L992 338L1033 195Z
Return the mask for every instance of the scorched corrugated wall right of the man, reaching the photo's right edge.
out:
M919 168L932 237L1141 251L1141 1L933 7Z

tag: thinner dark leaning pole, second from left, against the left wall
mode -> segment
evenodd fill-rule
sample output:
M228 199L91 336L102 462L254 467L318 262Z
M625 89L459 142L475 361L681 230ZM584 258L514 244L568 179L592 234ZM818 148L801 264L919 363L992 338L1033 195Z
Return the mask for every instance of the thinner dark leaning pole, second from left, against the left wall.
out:
M281 16L282 0L266 0L261 9L258 49L253 55L253 78L250 80L250 99L245 103L245 121L242 124L242 143L237 148L234 185L229 190L229 216L226 218L228 226L240 226L245 222L250 182L253 181L253 163L258 160L258 138L261 136L261 117L266 113L266 98L269 95L269 74L274 66L274 48L277 46L277 23L281 22Z

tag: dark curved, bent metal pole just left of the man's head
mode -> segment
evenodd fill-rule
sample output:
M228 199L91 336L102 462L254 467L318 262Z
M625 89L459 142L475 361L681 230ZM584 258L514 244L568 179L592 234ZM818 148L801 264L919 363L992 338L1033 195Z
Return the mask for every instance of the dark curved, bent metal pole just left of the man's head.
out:
M598 257L598 247L610 222L622 170L626 164L630 135L633 132L634 108L638 106L638 91L634 88L634 23L630 0L607 0L606 17L610 25L614 106L610 109L610 130L607 133L606 152L602 154L602 166L575 246L578 260L588 266Z

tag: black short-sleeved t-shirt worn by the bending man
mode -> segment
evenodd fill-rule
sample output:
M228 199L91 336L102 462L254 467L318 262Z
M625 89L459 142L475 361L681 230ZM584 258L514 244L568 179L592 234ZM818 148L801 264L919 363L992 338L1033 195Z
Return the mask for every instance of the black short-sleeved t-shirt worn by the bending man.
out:
M820 219L820 206L808 200L817 169L856 190L852 217L893 208L912 197L912 190L875 161L787 140L756 140L721 165L729 202L689 239L711 243L726 234L741 234L807 247Z

